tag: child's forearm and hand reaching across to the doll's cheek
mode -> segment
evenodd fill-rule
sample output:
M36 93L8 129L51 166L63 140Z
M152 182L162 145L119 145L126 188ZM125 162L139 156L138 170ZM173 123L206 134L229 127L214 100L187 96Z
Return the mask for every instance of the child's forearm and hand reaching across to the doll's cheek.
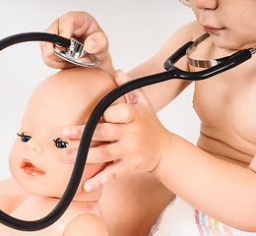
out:
M128 81L118 74L120 81ZM165 130L142 89L130 92L129 97L130 103L105 111L106 123L100 124L104 132L97 129L94 134L95 140L110 142L90 148L88 162L113 163L88 180L85 190L129 173L148 171L193 207L231 227L256 231L255 172Z

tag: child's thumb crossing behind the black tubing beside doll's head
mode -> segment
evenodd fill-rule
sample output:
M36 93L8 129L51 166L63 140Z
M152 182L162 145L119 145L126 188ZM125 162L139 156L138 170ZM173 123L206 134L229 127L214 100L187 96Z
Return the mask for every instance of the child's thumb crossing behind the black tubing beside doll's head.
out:
M117 86L121 86L121 85L131 81L131 79L121 70L116 71L114 80L115 80L115 83L117 84ZM132 91L126 93L124 96L125 96L126 102L131 103L131 104L142 103L145 100L148 101L148 99L142 89L132 90Z

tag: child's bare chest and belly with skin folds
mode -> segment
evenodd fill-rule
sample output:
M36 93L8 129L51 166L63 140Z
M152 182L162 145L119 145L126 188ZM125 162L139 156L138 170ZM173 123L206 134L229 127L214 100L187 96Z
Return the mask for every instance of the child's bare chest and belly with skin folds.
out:
M223 49L211 49L212 45L206 41L200 50L203 53L198 51L194 57L211 59L225 55ZM255 65L256 57L252 57L230 71L196 82L193 99L202 121L198 147L244 166L256 153Z

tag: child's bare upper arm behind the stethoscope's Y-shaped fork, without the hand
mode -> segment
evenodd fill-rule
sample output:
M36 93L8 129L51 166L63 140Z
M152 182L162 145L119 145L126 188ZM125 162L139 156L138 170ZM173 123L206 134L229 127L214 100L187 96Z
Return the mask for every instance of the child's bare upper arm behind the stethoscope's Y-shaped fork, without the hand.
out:
M136 79L147 75L163 72L164 61L175 52L180 46L193 40L202 34L197 22L190 23L181 29L178 29L161 46L160 51L148 61L131 70L127 75L130 79ZM184 71L189 71L186 57L181 58L176 67ZM159 111L162 107L173 100L183 89L187 88L191 82L182 80L170 80L160 84L155 84L143 88L143 91L149 98L154 109Z

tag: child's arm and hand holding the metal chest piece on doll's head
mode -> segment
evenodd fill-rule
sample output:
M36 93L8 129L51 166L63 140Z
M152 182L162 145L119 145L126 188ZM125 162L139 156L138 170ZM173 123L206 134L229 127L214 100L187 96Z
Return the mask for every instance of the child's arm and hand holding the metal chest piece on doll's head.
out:
M96 57L101 61L101 68L114 72L111 57L108 52L107 37L90 14L86 12L69 12L54 21L46 31L58 33L68 38L71 36L79 38L81 42L85 43L86 51L96 54ZM133 80L163 72L164 60L181 45L189 40L193 40L193 38L200 35L200 33L202 33L202 31L196 22L177 30L167 39L156 55L130 71L128 73L129 77ZM41 42L40 47L42 50L42 58L46 65L59 69L74 67L74 65L65 62L53 54L53 45L51 43ZM189 70L185 57L176 63L176 66L182 70ZM159 111L190 83L191 82L181 80L172 80L144 88L143 90L153 104L154 109Z

